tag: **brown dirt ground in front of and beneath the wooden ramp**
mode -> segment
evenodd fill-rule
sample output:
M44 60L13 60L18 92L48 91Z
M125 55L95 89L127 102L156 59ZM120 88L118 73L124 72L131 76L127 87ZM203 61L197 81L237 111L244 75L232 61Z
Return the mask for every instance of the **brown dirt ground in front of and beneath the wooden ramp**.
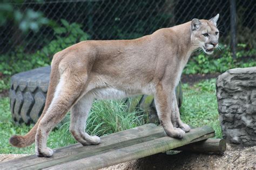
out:
M25 154L0 154L0 162L24 156ZM227 150L222 155L159 153L103 169L256 169L256 146L242 148L227 145Z

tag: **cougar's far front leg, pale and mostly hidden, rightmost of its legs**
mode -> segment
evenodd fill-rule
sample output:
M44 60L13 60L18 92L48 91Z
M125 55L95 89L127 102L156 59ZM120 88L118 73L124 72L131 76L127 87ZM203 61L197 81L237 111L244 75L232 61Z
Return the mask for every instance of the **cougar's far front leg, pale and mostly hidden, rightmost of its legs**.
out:
M179 107L178 107L175 91L173 93L172 101L173 101L172 102L173 108L172 108L171 121L172 121L173 125L177 128L184 130L185 132L190 131L190 129L191 129L190 126L183 123L180 119Z

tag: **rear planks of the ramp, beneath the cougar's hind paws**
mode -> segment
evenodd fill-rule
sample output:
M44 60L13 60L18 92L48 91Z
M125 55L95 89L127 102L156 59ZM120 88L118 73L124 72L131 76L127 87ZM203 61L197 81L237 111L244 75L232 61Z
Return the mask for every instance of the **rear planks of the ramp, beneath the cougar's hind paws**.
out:
M200 138L192 139L190 143L207 139L212 136L214 136L213 130L209 133L205 133L205 135L203 134ZM166 137L166 134L161 126L147 124L138 128L104 136L101 138L102 144L99 145L82 146L80 144L75 144L68 147L62 147L55 150L55 154L53 154L53 157L51 158L38 158L35 155L31 155L14 161L4 162L0 164L0 169L41 169L65 164L66 162L73 162L79 159L86 159L94 156L97 157L98 154L109 153L163 137Z

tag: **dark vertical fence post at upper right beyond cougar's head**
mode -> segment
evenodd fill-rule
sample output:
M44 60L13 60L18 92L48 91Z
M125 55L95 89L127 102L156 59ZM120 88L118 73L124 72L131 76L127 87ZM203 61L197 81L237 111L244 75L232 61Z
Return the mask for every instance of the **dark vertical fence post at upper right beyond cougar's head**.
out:
M231 26L231 48L232 48L232 54L233 59L237 58L236 52L237 52L237 23L236 23L236 5L235 0L230 0L230 26Z

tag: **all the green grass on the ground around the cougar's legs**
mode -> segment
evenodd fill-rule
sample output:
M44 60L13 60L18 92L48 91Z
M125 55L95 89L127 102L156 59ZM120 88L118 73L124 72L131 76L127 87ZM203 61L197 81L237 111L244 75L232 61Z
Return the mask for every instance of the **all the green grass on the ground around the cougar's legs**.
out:
M0 153L33 154L35 145L16 148L11 147L8 143L8 139L13 134L25 134L31 129L31 126L16 126L12 122L9 108L9 98L0 98ZM181 119L195 127L210 125L215 130L216 137L222 137L215 98L215 80L203 81L192 87L183 84ZM122 101L96 101L87 120L86 131L92 135L103 136L134 128L146 122L147 116L145 114L127 111L127 106ZM58 125L58 129L50 133L48 146L56 148L73 143L76 141L69 132L68 114L62 125Z

